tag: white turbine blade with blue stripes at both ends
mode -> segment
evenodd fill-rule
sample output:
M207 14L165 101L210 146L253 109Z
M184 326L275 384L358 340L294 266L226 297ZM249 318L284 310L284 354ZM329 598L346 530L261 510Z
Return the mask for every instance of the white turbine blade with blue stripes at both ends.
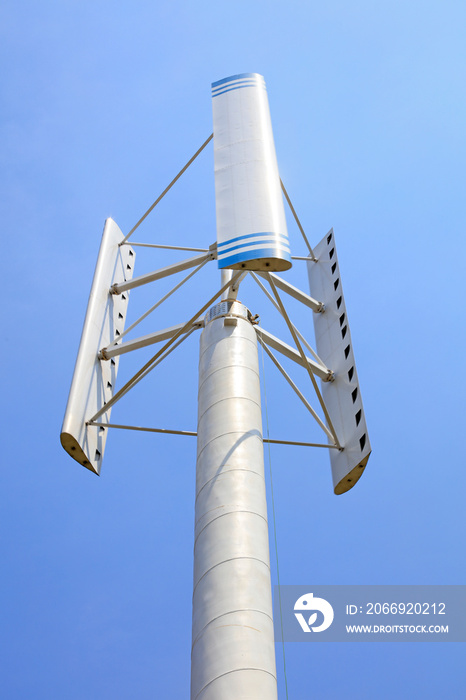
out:
M285 211L264 78L212 83L218 266L291 267Z

